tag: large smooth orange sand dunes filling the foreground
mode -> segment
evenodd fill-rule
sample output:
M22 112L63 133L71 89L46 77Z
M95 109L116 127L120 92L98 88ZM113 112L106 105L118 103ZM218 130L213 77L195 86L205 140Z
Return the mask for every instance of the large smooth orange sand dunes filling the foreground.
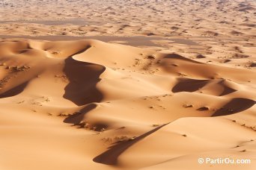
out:
M256 168L254 69L97 40L2 40L0 65L0 169Z

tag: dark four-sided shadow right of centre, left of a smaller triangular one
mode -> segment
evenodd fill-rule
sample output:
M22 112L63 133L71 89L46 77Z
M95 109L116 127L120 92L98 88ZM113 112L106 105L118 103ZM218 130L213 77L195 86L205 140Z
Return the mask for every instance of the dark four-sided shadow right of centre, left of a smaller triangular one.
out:
M179 82L171 89L172 92L195 92L204 87L209 80L179 78Z

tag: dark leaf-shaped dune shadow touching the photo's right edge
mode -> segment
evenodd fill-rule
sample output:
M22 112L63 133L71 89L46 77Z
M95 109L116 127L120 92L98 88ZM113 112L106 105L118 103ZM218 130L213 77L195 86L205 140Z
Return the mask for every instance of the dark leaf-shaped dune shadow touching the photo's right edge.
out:
M249 109L250 107L253 107L255 103L256 101L248 98L233 98L230 102L228 102L228 104L225 104L222 109L217 110L215 113L213 113L212 116L226 116L234 113L239 113Z

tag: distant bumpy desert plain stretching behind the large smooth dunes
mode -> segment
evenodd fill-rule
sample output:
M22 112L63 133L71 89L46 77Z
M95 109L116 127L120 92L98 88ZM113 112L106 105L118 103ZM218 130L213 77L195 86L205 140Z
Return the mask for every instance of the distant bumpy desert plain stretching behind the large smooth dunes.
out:
M132 45L192 58L204 54L200 62L255 69L255 9L253 0L2 0L0 38L124 43L143 36L150 42Z

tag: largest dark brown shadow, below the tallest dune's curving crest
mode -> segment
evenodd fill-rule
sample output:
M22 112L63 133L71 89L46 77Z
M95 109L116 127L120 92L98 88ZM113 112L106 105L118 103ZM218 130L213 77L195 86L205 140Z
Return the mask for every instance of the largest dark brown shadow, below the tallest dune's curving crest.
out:
M80 54L90 47L88 45L88 47L76 52L76 54ZM100 81L100 75L106 68L94 63L74 60L73 56L76 54L72 54L65 60L64 73L70 83L65 87L63 97L79 106L91 102L100 102L103 95L96 88L96 84Z

